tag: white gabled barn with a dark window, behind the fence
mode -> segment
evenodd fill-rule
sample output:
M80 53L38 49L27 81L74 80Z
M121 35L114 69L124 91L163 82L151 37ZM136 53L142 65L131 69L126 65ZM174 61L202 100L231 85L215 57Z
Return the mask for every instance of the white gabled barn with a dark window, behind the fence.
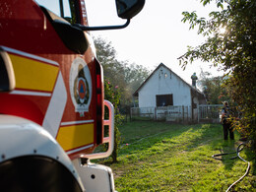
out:
M196 109L198 104L206 103L205 96L196 87L186 83L162 63L133 96L138 96L139 107L183 105ZM191 112L194 113L193 110Z

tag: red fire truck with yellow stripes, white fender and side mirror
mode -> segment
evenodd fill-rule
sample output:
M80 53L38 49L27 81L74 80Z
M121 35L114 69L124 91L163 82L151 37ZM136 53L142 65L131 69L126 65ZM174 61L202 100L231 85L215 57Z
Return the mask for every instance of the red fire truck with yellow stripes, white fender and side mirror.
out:
M116 0L127 22L91 27L84 0L0 1L0 191L114 191L90 162L111 154L114 126L90 31L125 28L144 3Z

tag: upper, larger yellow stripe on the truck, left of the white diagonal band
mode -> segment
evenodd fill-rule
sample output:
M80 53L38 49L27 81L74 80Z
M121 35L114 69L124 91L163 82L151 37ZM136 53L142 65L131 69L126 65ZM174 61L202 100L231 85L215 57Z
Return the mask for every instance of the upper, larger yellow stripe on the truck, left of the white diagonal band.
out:
M55 85L58 67L40 61L10 54L12 60L16 88L51 92Z

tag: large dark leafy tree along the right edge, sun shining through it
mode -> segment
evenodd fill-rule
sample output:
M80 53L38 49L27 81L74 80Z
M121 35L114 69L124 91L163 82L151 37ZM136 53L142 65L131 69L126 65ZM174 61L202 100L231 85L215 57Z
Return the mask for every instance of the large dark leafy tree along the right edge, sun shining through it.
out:
M204 6L211 2L201 0ZM182 21L189 22L190 29L198 27L198 33L207 39L196 47L189 46L179 60L183 67L201 59L227 71L225 88L242 114L242 118L234 120L234 125L255 148L256 1L216 0L216 5L220 11L211 12L208 20L199 18L196 12L182 13Z

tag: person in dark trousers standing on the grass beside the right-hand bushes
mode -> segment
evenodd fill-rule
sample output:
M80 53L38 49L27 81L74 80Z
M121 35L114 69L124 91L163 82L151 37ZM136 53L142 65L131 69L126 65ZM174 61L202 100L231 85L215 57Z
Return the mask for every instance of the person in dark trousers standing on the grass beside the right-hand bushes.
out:
M224 107L222 109L222 123L224 126L224 140L227 140L228 133L229 133L230 140L233 140L234 136L231 128L230 111L229 111L227 101L224 101Z

